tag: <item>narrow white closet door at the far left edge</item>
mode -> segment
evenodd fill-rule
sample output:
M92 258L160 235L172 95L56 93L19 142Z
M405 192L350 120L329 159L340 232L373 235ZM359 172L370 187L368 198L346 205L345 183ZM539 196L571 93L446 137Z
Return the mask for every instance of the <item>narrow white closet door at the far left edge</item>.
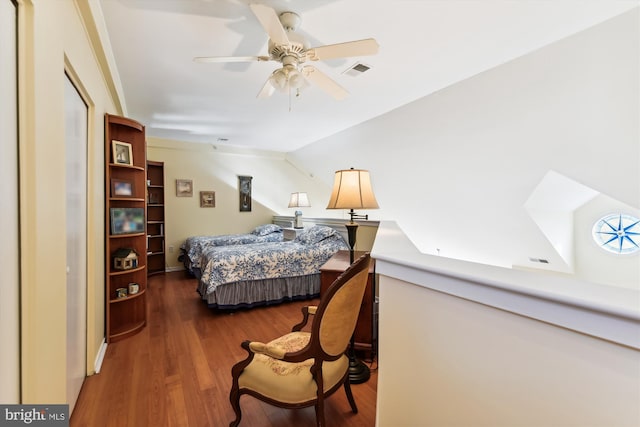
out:
M16 5L0 0L0 402L20 402Z

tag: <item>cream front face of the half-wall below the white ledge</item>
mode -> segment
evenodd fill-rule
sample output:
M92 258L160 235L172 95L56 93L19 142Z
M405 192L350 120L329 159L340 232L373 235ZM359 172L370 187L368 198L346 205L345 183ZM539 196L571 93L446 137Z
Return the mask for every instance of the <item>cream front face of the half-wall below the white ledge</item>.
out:
M640 422L637 349L388 277L380 299L378 426Z

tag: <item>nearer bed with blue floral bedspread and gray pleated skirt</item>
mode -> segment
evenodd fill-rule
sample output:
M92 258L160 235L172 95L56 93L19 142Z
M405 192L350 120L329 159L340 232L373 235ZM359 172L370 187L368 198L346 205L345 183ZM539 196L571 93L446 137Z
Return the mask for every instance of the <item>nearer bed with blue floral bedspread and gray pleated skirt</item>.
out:
M294 240L219 246L201 258L198 292L218 309L238 309L315 298L320 267L348 249L338 231L316 225Z

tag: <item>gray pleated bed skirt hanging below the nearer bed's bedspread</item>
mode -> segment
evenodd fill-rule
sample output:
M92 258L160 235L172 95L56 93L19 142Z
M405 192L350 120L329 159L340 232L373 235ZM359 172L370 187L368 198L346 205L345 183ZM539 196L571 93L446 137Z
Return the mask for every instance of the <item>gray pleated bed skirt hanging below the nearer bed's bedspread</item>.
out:
M279 304L317 298L320 295L320 273L227 283L208 295L206 290L207 284L199 281L198 292L202 299L209 307L221 310Z

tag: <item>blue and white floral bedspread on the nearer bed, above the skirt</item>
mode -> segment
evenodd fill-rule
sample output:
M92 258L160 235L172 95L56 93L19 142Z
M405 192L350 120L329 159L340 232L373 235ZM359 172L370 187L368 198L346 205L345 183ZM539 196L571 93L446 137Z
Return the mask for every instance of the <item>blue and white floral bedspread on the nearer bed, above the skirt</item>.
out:
M221 246L203 253L199 291L246 280L296 277L320 272L337 251L349 249L331 227L314 226L290 242Z

